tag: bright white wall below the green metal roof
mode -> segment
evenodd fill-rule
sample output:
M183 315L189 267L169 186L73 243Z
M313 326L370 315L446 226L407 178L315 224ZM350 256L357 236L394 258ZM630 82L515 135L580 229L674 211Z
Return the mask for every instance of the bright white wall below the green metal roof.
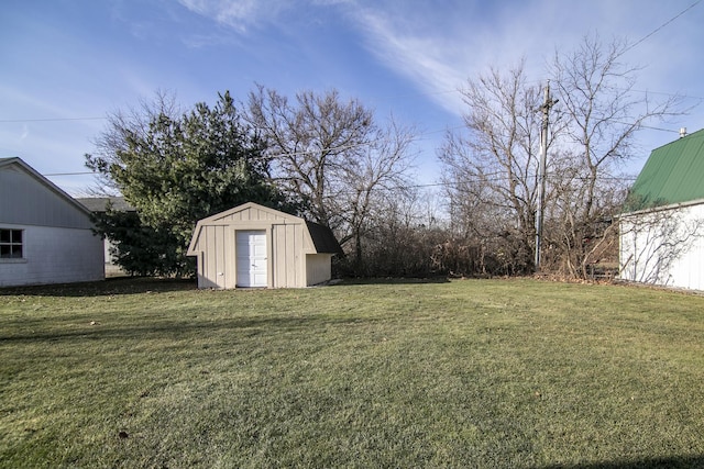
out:
M704 203L624 215L620 278L704 290Z

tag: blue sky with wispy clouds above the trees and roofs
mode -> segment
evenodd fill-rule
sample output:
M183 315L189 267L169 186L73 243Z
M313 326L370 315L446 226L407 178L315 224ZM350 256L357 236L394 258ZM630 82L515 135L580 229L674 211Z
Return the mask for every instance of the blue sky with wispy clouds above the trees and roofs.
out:
M0 156L44 175L86 171L106 114L156 90L191 105L224 90L245 100L255 83L289 97L336 88L380 120L393 113L416 125L417 178L432 183L443 132L461 125L463 81L525 57L530 79L543 82L556 47L570 51L586 34L631 43L651 34L626 56L644 67L636 89L698 104L701 1L4 0ZM630 169L680 126L704 127L703 107L644 131ZM48 178L72 194L94 183L90 175Z

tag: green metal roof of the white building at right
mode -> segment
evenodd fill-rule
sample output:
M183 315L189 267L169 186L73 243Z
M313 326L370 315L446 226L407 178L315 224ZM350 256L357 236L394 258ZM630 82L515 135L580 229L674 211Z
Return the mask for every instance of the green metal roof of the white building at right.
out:
M626 211L704 199L704 130L656 148L634 182Z

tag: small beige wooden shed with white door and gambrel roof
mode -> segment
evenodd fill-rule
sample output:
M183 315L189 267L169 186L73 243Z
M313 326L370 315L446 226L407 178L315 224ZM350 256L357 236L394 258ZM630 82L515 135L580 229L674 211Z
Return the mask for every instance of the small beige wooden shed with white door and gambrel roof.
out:
M198 288L304 288L331 279L330 228L253 202L200 220L188 255Z

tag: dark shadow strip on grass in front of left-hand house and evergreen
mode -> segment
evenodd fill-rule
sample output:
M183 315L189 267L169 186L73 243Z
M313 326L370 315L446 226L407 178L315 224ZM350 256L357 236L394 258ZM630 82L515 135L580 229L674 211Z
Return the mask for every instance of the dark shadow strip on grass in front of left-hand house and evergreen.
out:
M195 279L118 277L84 283L56 283L0 288L0 295L26 297L110 297L146 292L196 290Z

